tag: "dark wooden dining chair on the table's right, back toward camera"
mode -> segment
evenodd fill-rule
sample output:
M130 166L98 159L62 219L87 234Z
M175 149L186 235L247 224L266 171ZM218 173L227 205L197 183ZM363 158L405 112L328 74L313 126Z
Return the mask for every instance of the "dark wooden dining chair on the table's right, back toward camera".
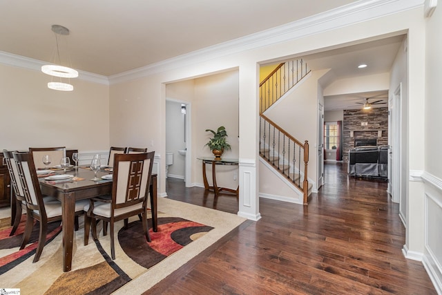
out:
M111 200L90 199L84 221L84 245L88 245L91 225L93 238L98 239L97 219L108 222L111 238L111 257L115 259L114 223L139 214L142 215L144 236L148 242L151 241L148 233L146 205L154 155L154 151L115 155ZM126 222L124 222L124 225L127 228Z

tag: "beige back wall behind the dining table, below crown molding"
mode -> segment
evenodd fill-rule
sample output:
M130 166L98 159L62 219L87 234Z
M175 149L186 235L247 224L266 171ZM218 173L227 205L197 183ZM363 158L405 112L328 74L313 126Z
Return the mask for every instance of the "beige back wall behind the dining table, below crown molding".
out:
M0 64L0 148L108 151L108 86L71 79L74 91L64 92L49 89L50 81L40 71Z

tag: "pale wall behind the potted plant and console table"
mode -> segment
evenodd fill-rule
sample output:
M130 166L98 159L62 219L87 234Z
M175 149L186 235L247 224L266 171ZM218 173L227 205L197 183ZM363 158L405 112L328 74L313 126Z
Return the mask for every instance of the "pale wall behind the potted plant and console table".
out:
M195 79L195 97L192 104L193 158L192 179L195 184L203 185L202 162L198 157L215 158L205 144L213 137L206 129L216 131L224 126L227 131L227 142L231 151L225 151L222 158L238 159L238 71L229 71ZM216 167L218 186L229 189L238 187L238 166ZM211 166L206 169L211 183ZM233 180L236 173L236 180Z

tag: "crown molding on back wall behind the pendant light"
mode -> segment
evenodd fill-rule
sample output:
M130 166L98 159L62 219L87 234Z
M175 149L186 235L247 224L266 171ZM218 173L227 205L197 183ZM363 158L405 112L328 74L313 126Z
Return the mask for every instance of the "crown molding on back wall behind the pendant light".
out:
M4 51L0 51L0 64L5 64L7 66L15 66L17 68L26 68L28 70L35 70L41 73L41 66L44 66L45 64L48 63L46 61L31 59L29 57L23 57L21 55L14 55L12 53L6 53ZM80 79L97 84L109 85L108 77L94 73L84 72L83 70L78 71L78 77L75 79Z

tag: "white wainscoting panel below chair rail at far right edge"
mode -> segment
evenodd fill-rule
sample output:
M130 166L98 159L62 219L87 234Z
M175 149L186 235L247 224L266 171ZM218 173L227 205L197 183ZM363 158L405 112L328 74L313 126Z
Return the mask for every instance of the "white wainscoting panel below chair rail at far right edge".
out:
M442 294L442 180L424 172L425 249L423 265L438 294Z

